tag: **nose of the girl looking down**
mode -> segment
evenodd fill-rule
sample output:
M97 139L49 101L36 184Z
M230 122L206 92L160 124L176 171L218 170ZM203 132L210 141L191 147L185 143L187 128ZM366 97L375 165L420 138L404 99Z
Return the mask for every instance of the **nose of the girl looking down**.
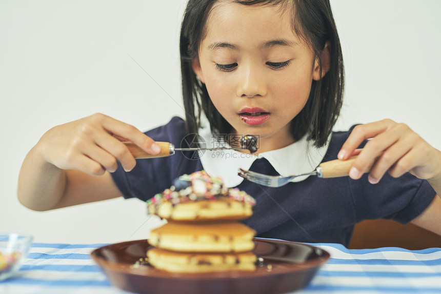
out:
M265 79L258 70L248 68L238 77L237 96L265 96L267 88Z

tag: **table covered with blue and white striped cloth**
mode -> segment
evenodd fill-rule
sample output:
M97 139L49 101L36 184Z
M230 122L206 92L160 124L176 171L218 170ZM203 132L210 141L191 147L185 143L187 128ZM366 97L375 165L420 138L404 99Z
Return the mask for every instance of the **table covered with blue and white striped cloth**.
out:
M18 275L0 282L2 294L124 294L90 258L107 244L34 243ZM331 254L311 283L310 293L441 293L441 248L347 249L311 244Z

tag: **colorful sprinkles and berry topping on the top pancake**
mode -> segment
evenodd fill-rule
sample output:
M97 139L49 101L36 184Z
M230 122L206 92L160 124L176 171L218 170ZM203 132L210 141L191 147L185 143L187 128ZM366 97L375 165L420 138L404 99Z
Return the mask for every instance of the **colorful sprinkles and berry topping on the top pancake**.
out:
M146 203L148 206L158 206L165 201L171 201L176 205L189 201L217 201L220 197L228 197L252 206L256 204L255 199L247 192L238 188L229 189L224 185L222 178L212 178L205 170L181 175L169 189L157 193Z

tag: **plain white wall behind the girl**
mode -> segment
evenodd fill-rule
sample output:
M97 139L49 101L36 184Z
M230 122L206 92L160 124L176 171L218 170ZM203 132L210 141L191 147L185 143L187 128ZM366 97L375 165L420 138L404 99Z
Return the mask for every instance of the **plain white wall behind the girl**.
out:
M31 211L16 199L17 177L55 125L102 112L145 131L183 115L185 2L0 0L0 231L37 242L113 243L145 239L159 224L135 199ZM336 129L389 117L441 149L441 1L331 5L346 66Z

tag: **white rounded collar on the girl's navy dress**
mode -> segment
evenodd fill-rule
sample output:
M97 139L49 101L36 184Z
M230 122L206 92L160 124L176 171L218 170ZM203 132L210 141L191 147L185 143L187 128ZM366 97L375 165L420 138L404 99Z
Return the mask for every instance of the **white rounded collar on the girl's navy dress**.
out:
M210 127L199 129L199 135L204 138L207 147L228 146L220 143L213 136ZM217 137L218 138L218 137ZM274 169L283 176L308 173L322 162L328 150L329 140L322 148L308 146L306 135L297 142L284 148L258 153L258 155L239 152L236 150L206 150L201 151L202 166L212 177L221 177L227 187L235 187L242 183L243 178L237 175L239 168L248 170L258 158L266 158ZM303 181L308 176L298 177L291 182Z

